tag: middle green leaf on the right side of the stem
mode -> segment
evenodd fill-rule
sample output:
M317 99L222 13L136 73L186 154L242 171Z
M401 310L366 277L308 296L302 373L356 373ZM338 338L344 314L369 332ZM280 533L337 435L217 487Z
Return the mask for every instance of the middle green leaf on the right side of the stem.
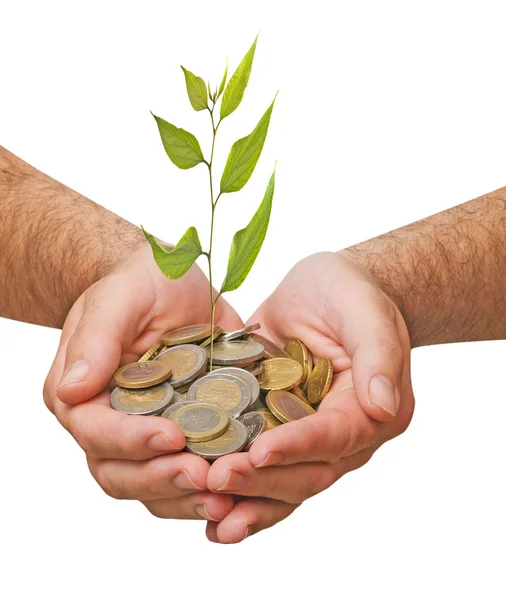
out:
M265 111L255 129L246 137L237 140L232 146L221 176L220 193L238 192L248 183L264 147L275 101L276 98Z

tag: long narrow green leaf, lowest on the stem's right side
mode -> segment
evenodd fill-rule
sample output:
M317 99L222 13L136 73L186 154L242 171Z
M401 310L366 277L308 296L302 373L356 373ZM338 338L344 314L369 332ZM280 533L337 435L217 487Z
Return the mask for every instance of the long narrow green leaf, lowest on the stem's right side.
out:
M247 227L234 235L228 258L227 274L220 294L236 290L243 283L260 252L271 216L275 175L276 171L270 178L262 203Z

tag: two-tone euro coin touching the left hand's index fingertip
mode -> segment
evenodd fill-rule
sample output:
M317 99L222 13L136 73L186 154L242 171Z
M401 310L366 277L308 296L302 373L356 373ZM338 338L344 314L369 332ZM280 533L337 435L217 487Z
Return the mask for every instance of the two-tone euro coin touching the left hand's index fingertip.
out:
M188 442L206 442L224 433L229 416L219 406L203 402L181 402L170 415L170 420L183 430Z

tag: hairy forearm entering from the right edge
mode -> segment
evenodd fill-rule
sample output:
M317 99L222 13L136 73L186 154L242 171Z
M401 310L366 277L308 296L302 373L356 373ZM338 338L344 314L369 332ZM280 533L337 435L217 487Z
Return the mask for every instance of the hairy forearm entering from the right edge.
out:
M506 339L506 188L342 254L396 302L413 347Z

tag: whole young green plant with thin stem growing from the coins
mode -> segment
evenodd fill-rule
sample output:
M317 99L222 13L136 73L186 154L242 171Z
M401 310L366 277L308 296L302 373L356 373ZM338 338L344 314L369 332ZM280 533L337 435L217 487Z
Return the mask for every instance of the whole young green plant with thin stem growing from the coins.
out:
M258 37L258 36L257 36ZM237 140L230 150L225 169L221 176L219 193L215 195L213 180L213 157L218 128L226 117L231 115L240 105L244 91L248 85L253 57L255 55L257 39L248 50L241 64L237 67L227 83L228 64L221 83L214 92L208 83L207 88L204 80L197 77L184 67L183 69L186 90L192 107L196 111L208 111L211 118L213 138L211 145L211 156L209 160L204 158L197 138L184 129L168 123L164 119L153 115L158 125L163 147L170 160L180 169L191 169L200 163L207 166L209 170L209 188L211 196L211 226L209 235L209 250L202 249L199 235L195 227L190 227L176 246L167 246L157 240L154 236L144 231L144 235L151 244L153 256L160 270L170 279L182 277L201 255L207 257L209 270L209 297L211 307L211 340L214 338L214 313L219 297L225 292L236 290L246 279L267 233L269 218L271 214L272 197L274 195L274 178L272 174L264 198L253 215L248 225L238 231L232 240L228 268L225 279L219 293L213 295L213 232L216 206L223 194L230 194L241 190L249 181L255 166L260 158L264 146L272 109L276 98L265 111L253 131L244 138ZM221 99L220 114L217 119L215 114L218 100ZM213 342L211 341L210 364L213 363Z

